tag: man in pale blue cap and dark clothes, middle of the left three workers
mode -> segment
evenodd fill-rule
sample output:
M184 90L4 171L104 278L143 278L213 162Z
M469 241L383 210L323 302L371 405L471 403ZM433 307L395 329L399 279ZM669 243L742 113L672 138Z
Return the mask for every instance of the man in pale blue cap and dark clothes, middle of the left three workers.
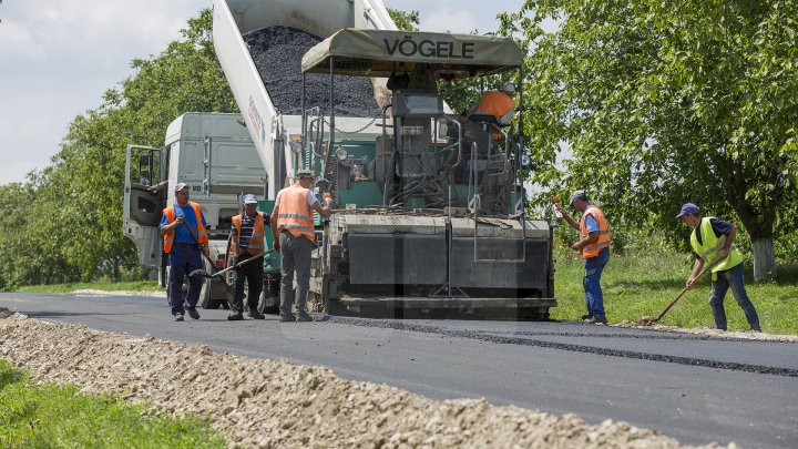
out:
M259 256L265 252L264 229L269 224L269 216L257 210L257 197L246 194L242 198L244 212L233 216L233 228L231 233L229 256L231 266L248 258ZM264 319L265 316L258 312L258 302L263 290L263 262L253 261L242 265L234 271L235 293L233 305L227 319L237 322L244 319L244 283L248 285L247 315L253 319Z

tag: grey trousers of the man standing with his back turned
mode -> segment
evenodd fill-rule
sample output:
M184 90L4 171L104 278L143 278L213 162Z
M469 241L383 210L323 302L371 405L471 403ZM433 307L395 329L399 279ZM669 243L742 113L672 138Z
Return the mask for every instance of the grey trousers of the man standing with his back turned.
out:
M316 244L304 236L282 232L280 239L280 314L289 315L294 304L294 272L296 271L297 313L307 313L307 292L310 288L310 253Z

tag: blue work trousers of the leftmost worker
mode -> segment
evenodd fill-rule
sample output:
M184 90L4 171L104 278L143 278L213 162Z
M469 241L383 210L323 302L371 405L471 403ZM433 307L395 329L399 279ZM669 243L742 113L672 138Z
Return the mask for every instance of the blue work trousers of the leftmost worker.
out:
M201 269L202 256L196 245L174 245L170 252L170 306L172 315L183 314L186 307L196 307L200 300L203 278L188 276L188 293L183 300L183 278L188 273Z

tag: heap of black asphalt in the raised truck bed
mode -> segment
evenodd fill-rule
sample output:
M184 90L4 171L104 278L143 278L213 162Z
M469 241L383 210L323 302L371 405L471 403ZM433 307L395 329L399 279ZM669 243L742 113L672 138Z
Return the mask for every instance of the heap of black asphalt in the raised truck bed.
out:
M244 33L249 54L275 108L284 115L301 114L301 59L321 38L291 27L267 27ZM335 112L340 116L374 118L379 106L370 78L335 75ZM305 109L320 106L329 114L329 75L308 73Z

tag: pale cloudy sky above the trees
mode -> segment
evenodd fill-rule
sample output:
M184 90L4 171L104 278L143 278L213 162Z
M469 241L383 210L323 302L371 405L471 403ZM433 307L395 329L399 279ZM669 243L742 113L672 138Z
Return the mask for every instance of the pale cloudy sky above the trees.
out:
M297 0L300 1L300 0ZM495 31L523 0L383 0L420 29ZM0 0L0 184L49 165L70 122L163 51L212 0ZM135 143L135 142L131 142Z

